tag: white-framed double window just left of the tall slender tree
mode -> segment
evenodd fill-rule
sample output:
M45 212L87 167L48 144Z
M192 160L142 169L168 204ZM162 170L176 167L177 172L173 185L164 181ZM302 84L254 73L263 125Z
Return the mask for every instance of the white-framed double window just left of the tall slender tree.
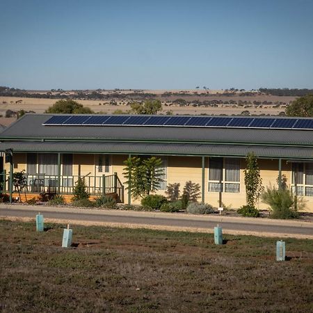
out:
M239 193L240 159L209 159L209 191Z

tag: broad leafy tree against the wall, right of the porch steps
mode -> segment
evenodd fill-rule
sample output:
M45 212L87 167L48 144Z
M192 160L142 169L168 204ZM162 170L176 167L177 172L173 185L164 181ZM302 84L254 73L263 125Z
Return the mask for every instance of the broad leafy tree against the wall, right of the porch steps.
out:
M162 160L157 157L141 160L138 157L128 158L125 162L123 175L127 179L127 189L130 188L134 199L145 198L154 193L163 181Z

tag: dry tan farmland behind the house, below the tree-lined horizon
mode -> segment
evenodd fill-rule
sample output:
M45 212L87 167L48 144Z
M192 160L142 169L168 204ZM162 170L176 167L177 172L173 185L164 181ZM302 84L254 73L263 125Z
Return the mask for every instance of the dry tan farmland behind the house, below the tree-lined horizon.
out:
M243 111L249 111L251 115L261 115L261 114L270 114L278 115L280 112L284 111L284 106L274 107L273 105L263 105L263 106L236 106L233 104L218 104L218 106L177 106L169 105L166 102L177 99L179 97L166 97L160 98L163 102L163 113L167 111L172 111L173 114L191 114L191 115L238 115ZM286 102L289 103L294 100L294 97L278 97L278 96L266 96L266 95L256 95L250 97L240 97L239 95L234 95L232 97L226 97L223 95L208 96L208 97L197 97L195 95L185 96L186 101L194 101L199 99L200 101L204 100L221 100L221 101L258 101L258 102ZM21 98L21 97L0 97L0 114L5 115L6 110L10 109L12 111L19 111L24 109L25 111L35 111L36 113L43 113L49 106L53 105L57 99L42 99L42 98ZM127 106L127 101L118 99L117 105L111 105L106 101L97 101L97 100L77 100L79 103L84 106L90 107L96 113L113 113L115 110L119 109L122 111L129 110Z

